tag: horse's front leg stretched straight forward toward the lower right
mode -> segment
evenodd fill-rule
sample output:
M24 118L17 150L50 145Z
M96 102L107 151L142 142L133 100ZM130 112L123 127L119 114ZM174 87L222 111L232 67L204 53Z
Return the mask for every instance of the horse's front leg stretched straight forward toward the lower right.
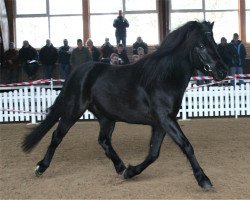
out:
M187 156L198 184L205 190L209 190L212 187L212 183L200 167L194 155L193 147L182 132L177 120L163 113L159 116L162 127Z

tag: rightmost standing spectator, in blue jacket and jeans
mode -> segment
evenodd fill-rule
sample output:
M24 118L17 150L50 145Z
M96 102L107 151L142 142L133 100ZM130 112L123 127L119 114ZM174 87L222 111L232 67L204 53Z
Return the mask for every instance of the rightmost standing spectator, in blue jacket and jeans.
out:
M230 75L234 76L235 74L243 74L243 66L246 59L246 49L242 42L239 40L238 33L234 33L233 40L230 43L230 50L232 53L232 65L230 66ZM239 84L244 83L240 79ZM231 85L234 86L234 80L231 81Z

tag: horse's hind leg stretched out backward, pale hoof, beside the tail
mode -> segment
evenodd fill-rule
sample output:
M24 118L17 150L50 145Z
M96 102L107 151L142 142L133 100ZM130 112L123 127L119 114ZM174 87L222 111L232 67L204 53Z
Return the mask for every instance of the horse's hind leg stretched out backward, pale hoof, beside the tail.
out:
M79 112L79 111L78 111ZM36 176L41 176L45 170L49 167L56 148L62 142L64 136L67 134L69 129L75 124L79 117L84 111L79 112L78 115L70 117L70 115L62 116L56 130L53 132L51 143L47 149L44 158L37 163L35 174Z

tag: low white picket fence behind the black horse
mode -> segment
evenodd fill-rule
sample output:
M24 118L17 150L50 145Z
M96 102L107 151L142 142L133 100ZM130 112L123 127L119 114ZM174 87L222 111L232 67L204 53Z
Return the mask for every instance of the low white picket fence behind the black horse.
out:
M41 121L60 91L29 86L0 93L0 122ZM186 91L179 118L250 115L250 83L235 87L213 86ZM81 119L93 120L86 111Z

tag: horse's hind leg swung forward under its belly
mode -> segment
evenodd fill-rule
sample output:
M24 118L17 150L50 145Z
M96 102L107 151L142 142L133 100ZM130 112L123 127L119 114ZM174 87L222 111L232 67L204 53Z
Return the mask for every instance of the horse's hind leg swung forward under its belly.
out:
M108 120L106 118L99 118L100 124L100 134L98 138L99 144L105 151L105 154L108 158L110 158L115 166L115 170L118 174L122 174L122 172L126 169L124 163L119 158L117 153L112 147L111 137L114 131L115 122Z

